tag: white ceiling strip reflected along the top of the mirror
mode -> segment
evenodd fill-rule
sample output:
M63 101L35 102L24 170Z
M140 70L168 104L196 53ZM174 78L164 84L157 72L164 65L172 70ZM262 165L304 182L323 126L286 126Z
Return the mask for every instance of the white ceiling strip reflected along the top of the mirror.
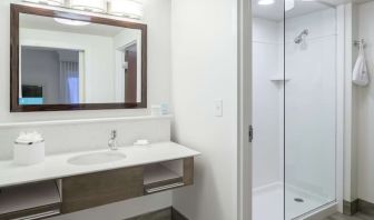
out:
M102 37L115 37L121 31L124 31L124 28L104 26L98 23L90 23L88 26L67 26L55 21L53 18L50 17L32 16L32 14L21 14L20 27L29 29L41 29L41 30L102 36Z

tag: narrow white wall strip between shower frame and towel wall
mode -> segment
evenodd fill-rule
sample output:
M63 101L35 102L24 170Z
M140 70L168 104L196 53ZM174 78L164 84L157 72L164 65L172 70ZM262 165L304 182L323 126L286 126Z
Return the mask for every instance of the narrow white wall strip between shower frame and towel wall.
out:
M354 3L341 6L344 18L338 22L344 23L344 200L355 201L357 196L357 144L356 144L356 106L357 92L352 83L352 70L355 62L357 50L353 50L352 42L358 39L357 7Z

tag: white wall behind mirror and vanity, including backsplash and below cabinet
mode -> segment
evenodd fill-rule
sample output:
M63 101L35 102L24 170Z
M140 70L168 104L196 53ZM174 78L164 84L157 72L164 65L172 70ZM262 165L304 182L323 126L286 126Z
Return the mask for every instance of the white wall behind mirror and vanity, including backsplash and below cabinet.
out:
M170 1L145 0L144 21L148 24L148 104L170 101ZM100 110L69 112L9 112L9 11L10 0L0 1L0 123L16 121L41 121L82 118L107 118L147 114L147 110ZM160 56L160 51L163 56ZM55 127L21 127L21 130L37 129L43 132L48 153L70 150L106 148L109 131L117 128L121 142L130 143L139 137L154 141L166 140L170 130L169 121L119 121L116 123L65 124ZM11 141L19 129L1 129L0 158L11 157ZM164 134L163 134L164 133ZM167 136L165 134L167 133ZM91 134L91 136L90 136ZM69 138L67 138L69 137ZM76 212L57 219L119 220L171 206L170 192L137 198L125 202Z

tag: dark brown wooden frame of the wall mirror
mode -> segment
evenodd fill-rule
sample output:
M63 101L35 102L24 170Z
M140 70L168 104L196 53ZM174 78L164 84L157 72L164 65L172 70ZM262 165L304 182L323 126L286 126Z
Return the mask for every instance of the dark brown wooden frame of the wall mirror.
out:
M19 104L19 17L20 13L65 18L91 23L138 29L141 31L141 102L137 103L79 103L79 104ZM115 20L102 17L86 16L22 4L10 7L10 111L69 111L100 109L140 109L147 108L147 24Z

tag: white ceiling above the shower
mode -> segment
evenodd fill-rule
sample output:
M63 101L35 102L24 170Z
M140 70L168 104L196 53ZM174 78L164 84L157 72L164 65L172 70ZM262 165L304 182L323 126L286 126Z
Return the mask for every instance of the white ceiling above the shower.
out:
M295 8L286 12L286 18L336 7L342 3L364 3L373 0L295 0ZM259 6L258 0L253 0L254 16L258 18L280 21L284 18L284 0L275 0L274 4Z

